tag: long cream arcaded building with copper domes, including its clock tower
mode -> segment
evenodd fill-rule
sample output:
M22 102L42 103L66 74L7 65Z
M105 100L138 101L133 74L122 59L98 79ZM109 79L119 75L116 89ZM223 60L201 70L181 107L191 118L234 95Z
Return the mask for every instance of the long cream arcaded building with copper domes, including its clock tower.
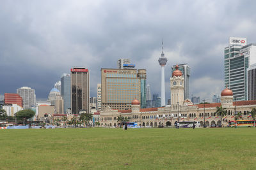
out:
M235 120L237 113L242 113L243 119L248 118L248 112L256 108L256 101L233 101L233 92L224 89L221 92L221 103L193 104L189 99L184 100L184 77L177 65L170 78L171 105L161 108L140 108L140 102L136 99L132 101L131 110L113 110L109 106L100 112L100 125L111 127L119 124L117 117L127 117L129 122L137 122L140 126L157 127L158 125L171 126L176 121L196 121L201 127L205 124L220 125L220 117L216 115L216 106L226 108L227 115L223 117L223 125L228 121ZM178 115L179 114L179 115Z

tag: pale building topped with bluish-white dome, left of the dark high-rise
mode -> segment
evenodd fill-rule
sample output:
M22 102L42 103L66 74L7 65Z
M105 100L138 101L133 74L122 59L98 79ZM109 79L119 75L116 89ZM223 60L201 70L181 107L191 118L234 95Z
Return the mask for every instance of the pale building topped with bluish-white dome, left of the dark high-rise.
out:
M64 113L64 101L60 95L60 91L56 88L53 88L48 96L48 101L54 106L55 114L63 114Z

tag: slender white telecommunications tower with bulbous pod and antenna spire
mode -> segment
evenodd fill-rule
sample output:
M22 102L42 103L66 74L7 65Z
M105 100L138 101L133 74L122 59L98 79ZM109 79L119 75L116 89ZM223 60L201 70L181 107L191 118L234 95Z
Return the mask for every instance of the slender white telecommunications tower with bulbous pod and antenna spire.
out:
M162 41L162 53L161 57L158 59L159 65L161 66L161 106L165 106L165 90L164 90L164 66L167 62L166 57L164 57L164 42Z

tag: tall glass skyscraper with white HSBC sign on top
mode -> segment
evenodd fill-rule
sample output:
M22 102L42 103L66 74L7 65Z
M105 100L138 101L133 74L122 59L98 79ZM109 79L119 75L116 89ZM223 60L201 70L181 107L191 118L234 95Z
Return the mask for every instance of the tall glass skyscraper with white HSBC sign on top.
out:
M234 92L237 101L247 99L246 69L256 56L255 50L255 44L246 45L246 38L230 38L225 48L225 87Z

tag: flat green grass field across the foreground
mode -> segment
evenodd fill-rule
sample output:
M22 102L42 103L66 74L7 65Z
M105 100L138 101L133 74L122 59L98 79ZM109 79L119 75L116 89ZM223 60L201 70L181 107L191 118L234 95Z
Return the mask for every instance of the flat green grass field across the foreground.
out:
M0 129L0 169L255 169L256 129Z

